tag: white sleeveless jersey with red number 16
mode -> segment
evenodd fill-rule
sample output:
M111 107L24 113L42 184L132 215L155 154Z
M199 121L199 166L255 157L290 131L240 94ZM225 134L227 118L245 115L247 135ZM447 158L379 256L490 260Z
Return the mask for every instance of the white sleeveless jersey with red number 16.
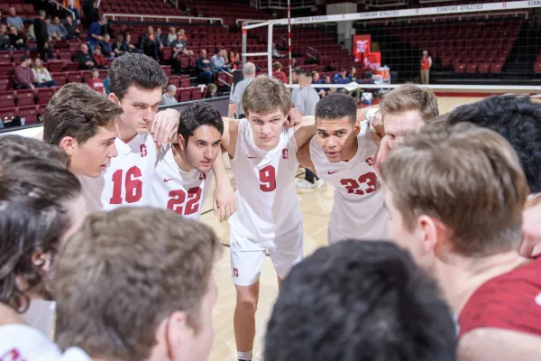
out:
M118 156L111 159L100 177L79 177L90 211L150 205L157 157L151 134L137 134L129 143L116 138L115 146Z

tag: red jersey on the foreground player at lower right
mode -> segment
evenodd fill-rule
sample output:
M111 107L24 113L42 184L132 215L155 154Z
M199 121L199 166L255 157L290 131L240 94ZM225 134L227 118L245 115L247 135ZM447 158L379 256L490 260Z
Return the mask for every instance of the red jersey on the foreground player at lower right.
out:
M460 312L458 325L459 338L481 328L541 337L541 257L484 282Z

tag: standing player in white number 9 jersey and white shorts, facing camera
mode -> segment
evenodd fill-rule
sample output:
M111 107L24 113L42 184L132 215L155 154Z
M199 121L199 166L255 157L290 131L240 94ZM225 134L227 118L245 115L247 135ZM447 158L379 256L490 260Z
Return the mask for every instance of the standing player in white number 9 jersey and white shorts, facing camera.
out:
M257 77L243 94L247 118L228 119L222 137L237 180L237 211L229 222L237 294L234 333L242 360L252 359L265 250L270 250L279 284L302 258L297 152L315 134L315 127L313 119L303 119L295 129L285 126L290 107L289 90L282 82Z

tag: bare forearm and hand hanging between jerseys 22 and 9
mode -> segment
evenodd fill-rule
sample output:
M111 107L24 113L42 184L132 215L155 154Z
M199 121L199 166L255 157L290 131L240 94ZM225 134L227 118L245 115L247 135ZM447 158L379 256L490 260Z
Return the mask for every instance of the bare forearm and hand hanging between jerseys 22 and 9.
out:
M212 165L215 175L216 188L213 196L213 208L215 215L218 215L220 222L230 218L236 211L236 197L231 181L225 170L224 156L219 153Z

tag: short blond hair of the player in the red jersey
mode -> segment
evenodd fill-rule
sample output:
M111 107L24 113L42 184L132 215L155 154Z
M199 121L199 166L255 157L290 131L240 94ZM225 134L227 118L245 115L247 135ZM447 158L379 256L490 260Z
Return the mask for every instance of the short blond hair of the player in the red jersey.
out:
M381 173L410 231L428 215L452 230L461 255L518 248L527 181L500 134L468 123L426 125L406 136Z

